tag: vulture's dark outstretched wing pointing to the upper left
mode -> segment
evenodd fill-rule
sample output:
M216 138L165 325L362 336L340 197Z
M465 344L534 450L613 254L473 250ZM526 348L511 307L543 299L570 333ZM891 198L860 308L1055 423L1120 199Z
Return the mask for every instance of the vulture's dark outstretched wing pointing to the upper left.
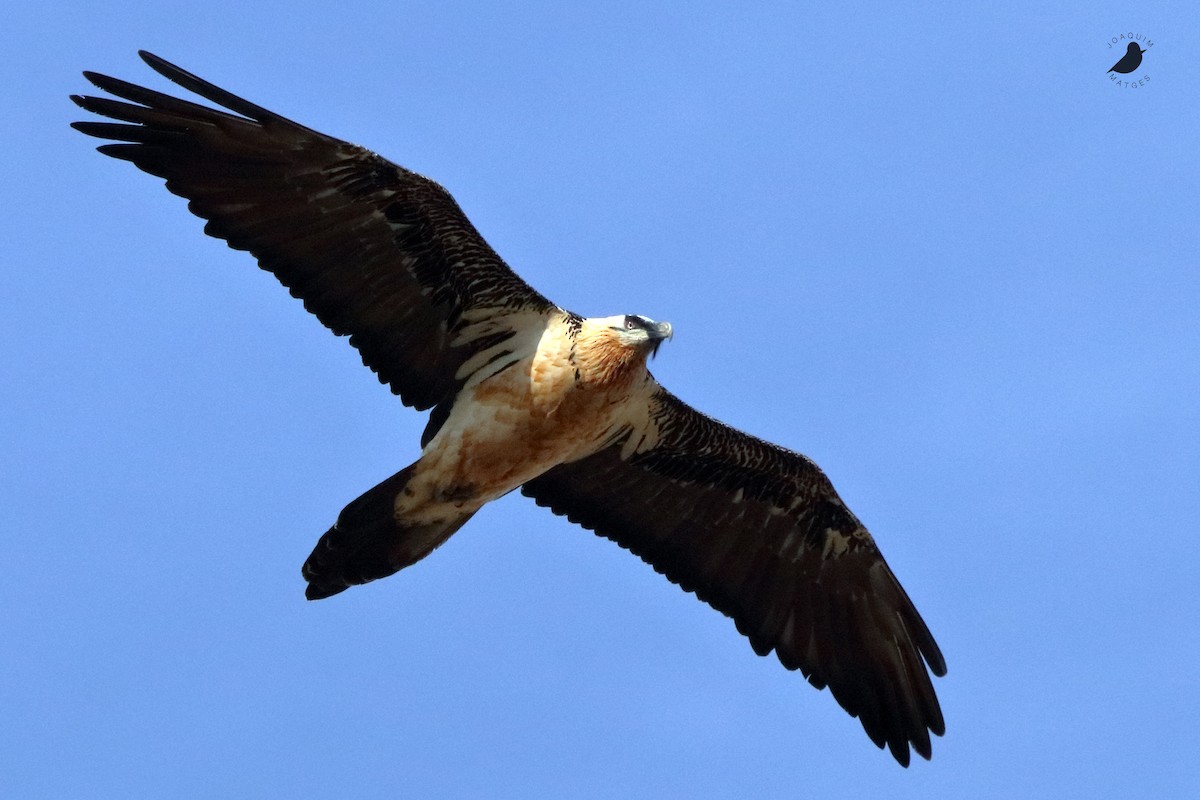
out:
M120 121L73 127L114 140L98 148L104 155L164 178L208 219L205 233L250 251L330 330L348 335L406 404L451 398L468 359L502 357L517 329L554 311L433 181L140 55L228 112L85 72L131 102L72 96Z

